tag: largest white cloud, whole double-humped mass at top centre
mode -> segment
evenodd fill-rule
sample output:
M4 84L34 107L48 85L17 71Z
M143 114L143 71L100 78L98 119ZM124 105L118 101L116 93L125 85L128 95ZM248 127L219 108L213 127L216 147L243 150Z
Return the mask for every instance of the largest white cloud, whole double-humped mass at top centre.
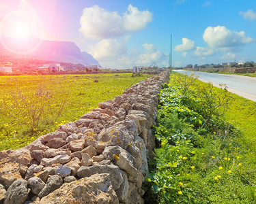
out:
M119 37L129 31L139 31L148 22L152 21L152 13L149 11L139 11L137 7L128 6L128 11L124 16L117 12L109 12L94 5L83 10L80 18L81 28L79 31L86 38L106 39Z

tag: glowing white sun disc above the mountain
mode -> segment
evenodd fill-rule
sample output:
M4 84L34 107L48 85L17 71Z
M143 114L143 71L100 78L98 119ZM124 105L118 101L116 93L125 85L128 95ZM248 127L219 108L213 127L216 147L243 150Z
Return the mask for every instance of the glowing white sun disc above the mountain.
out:
M31 29L25 22L14 22L10 28L12 37L26 38L31 35Z

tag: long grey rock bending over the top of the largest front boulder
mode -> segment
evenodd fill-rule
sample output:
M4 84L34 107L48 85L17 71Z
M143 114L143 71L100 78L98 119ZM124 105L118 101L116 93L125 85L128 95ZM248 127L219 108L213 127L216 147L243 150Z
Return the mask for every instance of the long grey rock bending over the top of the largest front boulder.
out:
M117 190L124 182L119 167L115 165L94 165L91 167L80 167L77 171L79 177L88 177L96 173L109 173L109 180L114 190Z

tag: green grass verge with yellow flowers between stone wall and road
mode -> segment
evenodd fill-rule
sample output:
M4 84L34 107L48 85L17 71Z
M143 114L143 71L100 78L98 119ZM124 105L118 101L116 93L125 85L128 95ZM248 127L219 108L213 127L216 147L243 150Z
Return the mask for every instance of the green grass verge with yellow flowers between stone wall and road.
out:
M255 203L255 103L186 76L165 88L146 201Z

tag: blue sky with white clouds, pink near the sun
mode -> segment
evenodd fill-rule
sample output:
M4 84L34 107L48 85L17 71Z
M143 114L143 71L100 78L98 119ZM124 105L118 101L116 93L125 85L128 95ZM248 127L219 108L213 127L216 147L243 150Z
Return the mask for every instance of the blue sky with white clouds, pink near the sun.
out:
M170 34L175 67L256 61L253 0L1 0L0 21L18 10L40 22L27 20L33 35L74 41L102 67L169 66Z

